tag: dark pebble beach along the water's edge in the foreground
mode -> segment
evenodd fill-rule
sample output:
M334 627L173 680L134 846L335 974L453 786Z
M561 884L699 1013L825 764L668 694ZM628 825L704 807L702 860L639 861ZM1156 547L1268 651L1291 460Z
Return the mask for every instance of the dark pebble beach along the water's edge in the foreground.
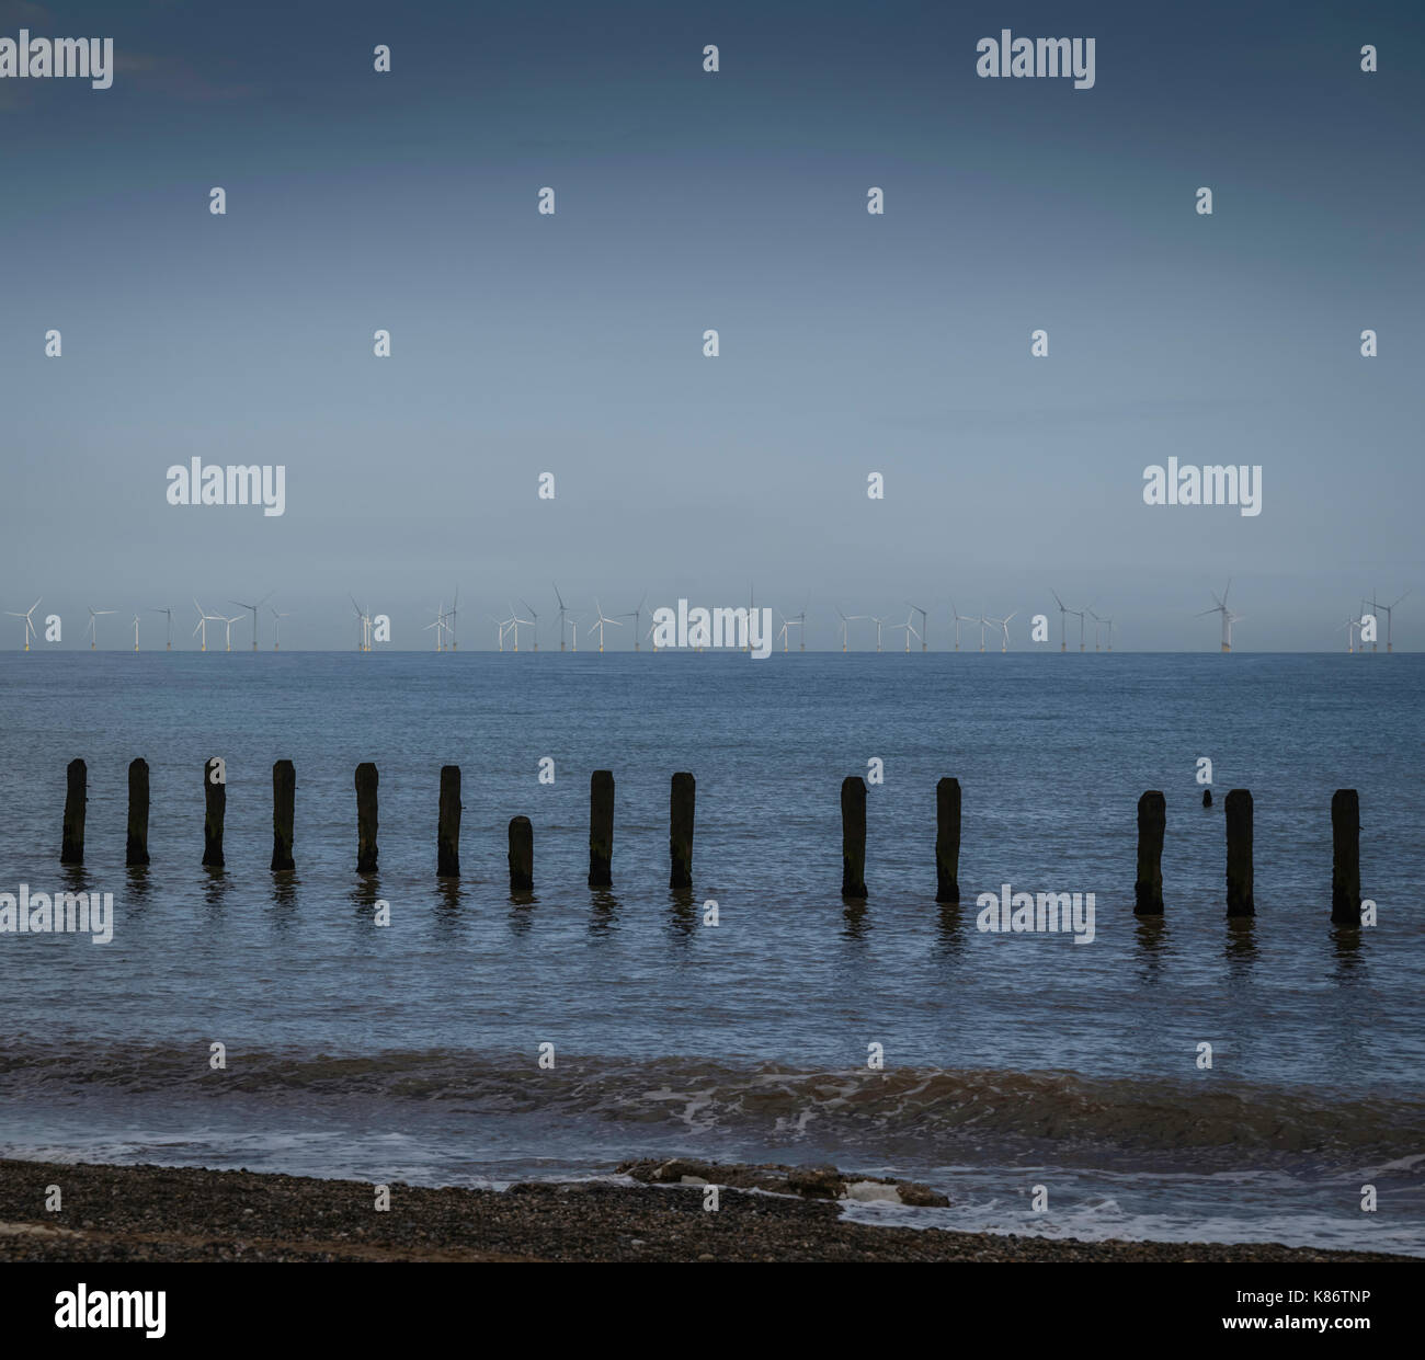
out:
M923 1188L831 1168L677 1161L618 1171L634 1183L398 1182L378 1212L365 1181L0 1159L0 1262L1418 1262L1271 1242L1083 1242L848 1222L846 1201L828 1196L849 1185L871 1198L891 1193L876 1186L902 1186L908 1202ZM720 1186L717 1212L704 1209L704 1171ZM60 1212L44 1208L50 1185L60 1186Z

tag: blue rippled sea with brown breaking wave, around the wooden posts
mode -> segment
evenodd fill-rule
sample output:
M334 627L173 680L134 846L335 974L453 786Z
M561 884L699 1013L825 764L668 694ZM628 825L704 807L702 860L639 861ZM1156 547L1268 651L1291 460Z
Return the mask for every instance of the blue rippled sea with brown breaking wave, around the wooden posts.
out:
M0 936L0 1152L429 1183L828 1161L952 1196L855 1210L896 1222L1425 1255L1422 681L1421 657L1384 654L4 654L0 891L113 891L117 923L108 946ZM152 864L130 872L140 755ZM224 872L200 864L212 755ZM90 803L70 874L73 756ZM266 867L279 758L298 772L285 877ZM849 906L839 785L872 758L871 897ZM365 877L361 760L380 769ZM445 763L457 883L435 874ZM613 891L584 886L596 768L617 778ZM667 889L681 769L691 894ZM942 775L965 790L959 910L933 901ZM1238 786L1258 914L1230 926ZM1341 786L1361 793L1374 930L1328 920ZM1133 916L1150 788L1161 923ZM512 900L519 813L536 891ZM975 896L1002 883L1094 893L1094 941L980 933Z

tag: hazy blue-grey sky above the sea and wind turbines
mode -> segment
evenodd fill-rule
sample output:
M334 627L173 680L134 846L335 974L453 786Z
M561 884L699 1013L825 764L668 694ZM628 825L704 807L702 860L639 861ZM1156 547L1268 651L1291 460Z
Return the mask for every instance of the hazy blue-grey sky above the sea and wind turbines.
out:
M1211 651L1231 578L1240 651L1327 651L1425 587L1418 3L0 0L21 27L114 40L107 90L0 80L0 608L64 647L272 591L284 649L352 647L353 594L423 648L457 584L493 647L557 581L752 582L817 649L908 601L935 648L953 601L1057 649L1057 591ZM979 77L1006 27L1093 37L1093 88ZM285 513L170 504L192 457L281 464ZM1261 513L1144 504L1168 457L1260 466Z

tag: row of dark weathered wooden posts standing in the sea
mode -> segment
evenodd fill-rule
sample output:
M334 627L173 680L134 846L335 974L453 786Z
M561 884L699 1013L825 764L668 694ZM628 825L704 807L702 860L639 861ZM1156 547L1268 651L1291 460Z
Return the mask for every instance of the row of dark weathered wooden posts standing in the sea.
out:
M204 763L202 862L222 867L222 822L227 785L215 779L221 765ZM376 766L356 766L356 872L376 869ZM693 886L693 822L697 783L687 772L673 776L668 795L670 887ZM88 770L71 760L64 797L61 864L84 863L84 809ZM1211 793L1203 795L1211 802ZM272 766L272 863L276 872L295 869L292 826L296 815L296 770L291 760ZM1247 789L1233 789L1224 805L1227 823L1227 914L1253 916L1253 800ZM935 788L935 900L960 900L960 783L942 779ZM1156 789L1139 799L1139 860L1133 910L1139 916L1163 914L1163 839L1167 799ZM529 817L510 822L510 889L534 886L534 830ZM1331 920L1359 924L1361 913L1361 800L1355 789L1337 789L1331 799ZM613 886L614 776L594 770L589 785L589 886ZM148 763L128 766L128 864L148 863ZM841 893L864 899L866 893L866 782L858 775L841 785ZM436 873L460 873L460 766L440 768L440 810L436 827Z

